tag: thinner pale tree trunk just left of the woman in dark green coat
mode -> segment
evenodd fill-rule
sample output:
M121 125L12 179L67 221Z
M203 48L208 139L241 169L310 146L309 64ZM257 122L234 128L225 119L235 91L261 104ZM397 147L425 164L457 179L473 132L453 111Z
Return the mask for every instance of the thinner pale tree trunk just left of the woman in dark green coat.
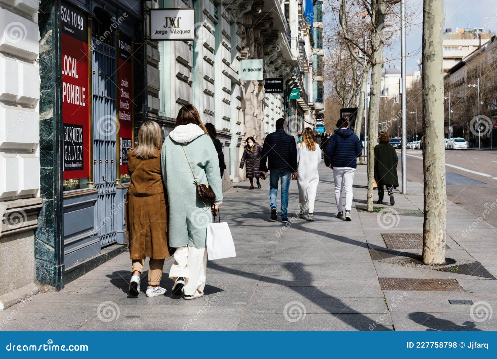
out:
M374 146L378 136L378 116L380 112L381 71L383 68L383 24L385 22L385 2L379 0L375 11L375 30L371 31L371 97L368 114L368 194L367 210L373 210Z

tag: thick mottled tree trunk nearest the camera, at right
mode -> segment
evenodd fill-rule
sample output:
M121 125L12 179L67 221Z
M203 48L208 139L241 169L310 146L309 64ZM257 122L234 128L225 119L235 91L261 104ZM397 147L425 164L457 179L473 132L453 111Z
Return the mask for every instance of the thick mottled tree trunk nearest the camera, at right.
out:
M445 263L446 200L442 73L443 0L423 4L423 263Z

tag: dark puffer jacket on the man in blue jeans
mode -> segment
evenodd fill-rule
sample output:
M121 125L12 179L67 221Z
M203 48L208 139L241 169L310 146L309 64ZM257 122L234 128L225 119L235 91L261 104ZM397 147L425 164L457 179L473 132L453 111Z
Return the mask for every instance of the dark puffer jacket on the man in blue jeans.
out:
M260 171L267 171L266 160L269 158L269 170L297 172L297 147L295 138L278 128L269 133L262 147Z

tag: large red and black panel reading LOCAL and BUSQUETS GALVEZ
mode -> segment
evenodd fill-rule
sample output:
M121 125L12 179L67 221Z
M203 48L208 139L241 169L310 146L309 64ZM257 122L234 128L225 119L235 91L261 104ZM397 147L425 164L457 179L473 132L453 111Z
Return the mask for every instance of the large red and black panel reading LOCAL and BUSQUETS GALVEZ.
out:
M89 177L88 19L61 4L64 180Z

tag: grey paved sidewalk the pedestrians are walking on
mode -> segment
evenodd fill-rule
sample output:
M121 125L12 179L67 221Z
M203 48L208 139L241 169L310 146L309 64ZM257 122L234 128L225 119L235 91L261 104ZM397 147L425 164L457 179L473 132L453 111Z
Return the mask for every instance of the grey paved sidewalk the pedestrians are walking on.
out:
M169 294L146 298L144 293L129 298L131 262L128 253L123 253L59 293L38 294L0 312L0 329L497 329L497 315L481 316L485 308L497 309L497 280L457 273L459 269L445 272L391 263L409 262L412 253L421 252L389 249L381 236L422 233L420 183L408 182L407 196L396 190L394 207L375 204L395 211L368 213L360 210L366 203L366 166L358 166L354 207L359 209L353 209L352 222L345 222L335 217L332 171L321 165L320 176L314 222L295 216L288 226L271 221L268 180L261 181L262 189L248 190L245 181L225 192L221 216L230 224L237 257L208 262L208 285L202 299L187 301ZM297 205L297 183L292 181L290 212L296 212ZM446 255L480 261L497 275L497 230L485 222L468 230L473 222L476 217L448 204L450 249ZM172 286L167 278L170 265L167 260L162 282L168 292ZM413 283L409 280L391 283L390 288L398 290L382 290L378 278L437 279L433 286L439 289L444 288L445 280L456 279L464 291L403 289L406 283ZM146 282L145 272L142 287ZM477 304L450 304L449 299ZM478 303L482 301L485 303Z

